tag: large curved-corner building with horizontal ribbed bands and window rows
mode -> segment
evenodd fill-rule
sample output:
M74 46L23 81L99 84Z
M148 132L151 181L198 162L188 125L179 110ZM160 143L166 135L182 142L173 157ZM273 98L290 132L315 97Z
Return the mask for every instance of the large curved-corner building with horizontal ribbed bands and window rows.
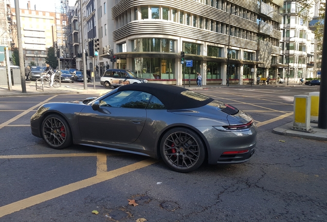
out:
M277 78L283 1L116 0L108 6L107 20L102 18L105 3L98 4L98 20L111 33L104 35L99 26L99 62L114 53L115 68L177 85L195 80L196 72L203 85L250 84L258 75ZM187 65L181 64L182 51Z

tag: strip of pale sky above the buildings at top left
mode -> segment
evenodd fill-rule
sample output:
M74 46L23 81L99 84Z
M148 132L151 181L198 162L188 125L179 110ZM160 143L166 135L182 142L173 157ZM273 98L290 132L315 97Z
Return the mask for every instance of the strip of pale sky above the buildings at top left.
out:
M29 0L31 3L31 9L34 10L34 5L36 6L38 11L50 11L55 12L56 7L55 3L60 4L60 0ZM27 9L28 0L19 0L20 9ZM76 0L69 0L69 6L74 6ZM15 1L10 0L11 8L15 7Z

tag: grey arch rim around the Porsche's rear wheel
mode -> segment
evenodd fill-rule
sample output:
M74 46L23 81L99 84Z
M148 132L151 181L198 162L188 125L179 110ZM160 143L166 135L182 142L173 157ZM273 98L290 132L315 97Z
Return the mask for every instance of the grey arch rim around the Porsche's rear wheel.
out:
M207 139L204 137L204 135L199 130L197 130L197 128L195 128L191 125L187 125L187 124L174 124L174 125L171 125L171 126L165 128L163 131L161 131L160 136L158 137L158 139L156 141L156 154L157 154L158 158L162 158L161 154L160 154L160 143L163 138L163 135L165 135L169 130L172 130L173 128L188 128L189 130L193 131L202 140L202 142L204 144L204 149L206 152L205 160L208 159L209 143L208 143Z

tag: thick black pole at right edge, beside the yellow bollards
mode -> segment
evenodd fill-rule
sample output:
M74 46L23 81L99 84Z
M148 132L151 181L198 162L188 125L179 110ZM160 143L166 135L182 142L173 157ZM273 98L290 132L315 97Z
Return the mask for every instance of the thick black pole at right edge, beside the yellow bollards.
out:
M325 7L325 14L327 7ZM323 40L322 40L322 58L321 61L327 59L327 21L324 18ZM321 62L320 72L320 92L319 92L319 112L318 112L318 128L327 128L327 63Z

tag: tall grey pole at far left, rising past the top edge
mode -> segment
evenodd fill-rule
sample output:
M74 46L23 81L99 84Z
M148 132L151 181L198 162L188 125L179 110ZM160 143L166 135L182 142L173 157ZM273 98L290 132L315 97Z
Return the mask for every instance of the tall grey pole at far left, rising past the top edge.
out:
M24 62L24 55L23 55L22 31L21 31L21 15L20 15L20 5L18 0L15 0L15 13L16 13L18 53L20 58L22 93L26 93L25 64L24 64L25 62Z

